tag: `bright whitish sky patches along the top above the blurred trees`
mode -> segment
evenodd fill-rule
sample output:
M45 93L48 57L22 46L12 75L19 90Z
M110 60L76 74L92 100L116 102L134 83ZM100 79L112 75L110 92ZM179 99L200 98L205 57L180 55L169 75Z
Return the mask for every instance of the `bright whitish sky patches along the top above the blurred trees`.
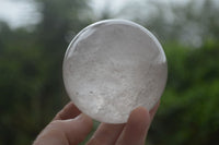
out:
M157 0L163 3L185 3L188 0ZM112 12L119 11L128 2L142 2L142 0L91 0L91 7L94 9L96 15L105 5ZM33 19L34 17L34 19ZM11 27L19 27L27 24L35 24L41 20L39 13L35 3L24 2L22 0L0 0L0 20L9 23Z

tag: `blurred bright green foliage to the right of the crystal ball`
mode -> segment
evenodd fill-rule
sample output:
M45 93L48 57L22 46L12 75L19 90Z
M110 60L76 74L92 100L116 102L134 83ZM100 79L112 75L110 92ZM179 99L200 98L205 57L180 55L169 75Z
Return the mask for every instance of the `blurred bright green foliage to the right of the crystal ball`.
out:
M168 86L149 133L152 144L218 143L219 44L191 49L166 45Z

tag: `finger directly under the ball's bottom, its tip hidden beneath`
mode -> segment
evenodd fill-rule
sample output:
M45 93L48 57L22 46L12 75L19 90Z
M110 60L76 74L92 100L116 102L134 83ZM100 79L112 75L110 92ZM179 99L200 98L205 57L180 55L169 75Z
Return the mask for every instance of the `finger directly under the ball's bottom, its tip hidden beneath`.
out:
M87 145L114 145L124 125L102 123Z

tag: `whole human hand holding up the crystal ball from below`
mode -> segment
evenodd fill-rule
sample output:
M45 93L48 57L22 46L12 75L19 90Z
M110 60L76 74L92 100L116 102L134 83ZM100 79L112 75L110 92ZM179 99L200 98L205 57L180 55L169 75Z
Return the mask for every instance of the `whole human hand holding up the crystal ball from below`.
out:
M138 107L127 123L101 123L87 145L145 145L159 102L148 111ZM42 131L33 145L78 145L92 130L92 119L69 102Z

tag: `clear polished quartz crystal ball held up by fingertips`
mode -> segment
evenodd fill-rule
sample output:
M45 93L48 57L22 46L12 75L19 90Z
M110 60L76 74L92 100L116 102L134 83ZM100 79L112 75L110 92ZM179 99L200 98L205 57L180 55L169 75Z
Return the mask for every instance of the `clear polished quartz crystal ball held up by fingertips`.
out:
M85 27L64 59L68 95L82 112L106 123L125 123L139 106L150 110L163 93L166 75L166 58L157 38L124 20Z

